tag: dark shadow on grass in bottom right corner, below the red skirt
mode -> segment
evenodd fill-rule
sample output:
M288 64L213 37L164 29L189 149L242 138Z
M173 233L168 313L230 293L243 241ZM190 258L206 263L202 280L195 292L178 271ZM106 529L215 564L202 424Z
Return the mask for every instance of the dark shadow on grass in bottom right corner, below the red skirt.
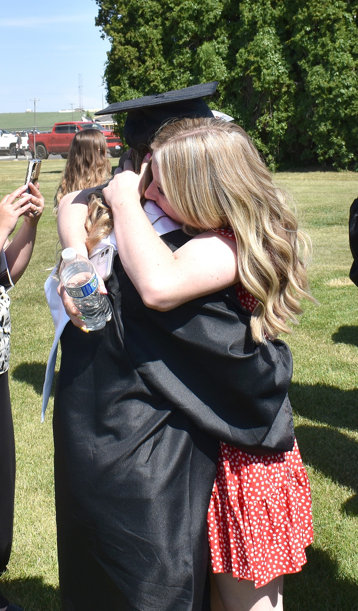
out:
M307 565L285 577L286 611L358 611L358 585L339 576L337 562L327 552L309 547Z

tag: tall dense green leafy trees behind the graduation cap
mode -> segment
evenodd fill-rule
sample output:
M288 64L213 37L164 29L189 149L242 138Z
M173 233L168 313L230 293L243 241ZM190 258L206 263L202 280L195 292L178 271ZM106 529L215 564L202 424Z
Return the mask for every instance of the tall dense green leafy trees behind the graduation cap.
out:
M358 0L96 2L110 103L216 80L272 167L358 169Z

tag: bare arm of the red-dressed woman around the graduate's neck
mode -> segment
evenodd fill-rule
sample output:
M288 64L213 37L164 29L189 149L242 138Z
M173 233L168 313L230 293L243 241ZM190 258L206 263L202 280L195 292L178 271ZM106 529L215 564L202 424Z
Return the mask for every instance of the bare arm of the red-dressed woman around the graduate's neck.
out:
M170 251L142 210L141 176L125 169L103 193L112 208L120 258L145 305L166 311L238 282L232 240L208 232Z

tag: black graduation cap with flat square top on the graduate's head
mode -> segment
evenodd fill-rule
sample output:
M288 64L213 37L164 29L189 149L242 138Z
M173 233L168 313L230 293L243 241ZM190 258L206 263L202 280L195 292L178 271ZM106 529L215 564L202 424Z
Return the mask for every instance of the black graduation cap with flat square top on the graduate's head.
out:
M217 81L213 81L157 95L146 95L144 98L115 102L95 114L127 112L124 126L126 143L130 147L143 149L148 147L156 131L171 119L213 117L202 98L212 95L216 87Z

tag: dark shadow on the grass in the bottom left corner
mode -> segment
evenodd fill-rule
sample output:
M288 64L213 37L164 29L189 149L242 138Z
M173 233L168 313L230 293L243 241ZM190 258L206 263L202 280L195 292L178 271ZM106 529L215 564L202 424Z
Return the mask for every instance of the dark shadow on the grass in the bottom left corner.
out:
M25 611L60 611L58 588L45 584L40 577L0 580L0 590L10 602L21 605Z

